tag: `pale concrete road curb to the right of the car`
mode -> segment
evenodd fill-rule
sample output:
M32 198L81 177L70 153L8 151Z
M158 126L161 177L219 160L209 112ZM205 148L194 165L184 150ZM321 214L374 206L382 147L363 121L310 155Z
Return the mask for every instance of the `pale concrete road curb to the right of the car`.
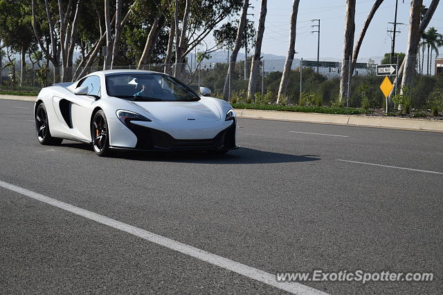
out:
M299 113L283 111L261 111L235 109L237 117L247 119L309 122L349 126L404 129L413 131L443 132L443 121L410 119L399 117L371 117L365 115L331 115L319 113Z

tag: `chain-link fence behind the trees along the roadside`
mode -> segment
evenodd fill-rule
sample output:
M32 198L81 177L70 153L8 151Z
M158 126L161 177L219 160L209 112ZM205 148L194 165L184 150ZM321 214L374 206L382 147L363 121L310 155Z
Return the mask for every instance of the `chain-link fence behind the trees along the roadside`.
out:
M403 57L386 57L359 60L354 65L352 77L342 84L349 91L341 91L341 61L317 61L310 59L294 59L289 73L286 104L300 104L312 106L350 106L356 108L386 108L386 99L380 89L385 77L377 75L377 65L392 64L397 69ZM256 79L255 95L247 97L248 78L251 70L251 60L237 61L232 77L228 79L227 90L230 102L255 102L273 104L277 101L284 59L261 60ZM346 63L350 65L350 63ZM222 97L229 64L226 61L206 62L179 65L180 79L195 90L200 86L210 88L215 97ZM426 67L426 68L425 68ZM114 69L135 69L136 66L114 66ZM38 91L43 86L49 86L72 79L78 79L102 70L102 66L89 68L54 68L34 66L26 67L21 73L20 66L6 66L1 71L1 90ZM174 65L150 64L141 66L143 70L157 72L174 72ZM349 70L349 69L348 69ZM401 79L397 77L397 70L388 76L394 84L390 94L390 107L398 105L417 109L428 110L435 104L443 106L443 59L432 59L431 63L418 60L417 66L410 70L408 75L410 84L401 91ZM396 82L398 80L398 83ZM342 93L342 95L341 95ZM403 93L403 95L400 95Z

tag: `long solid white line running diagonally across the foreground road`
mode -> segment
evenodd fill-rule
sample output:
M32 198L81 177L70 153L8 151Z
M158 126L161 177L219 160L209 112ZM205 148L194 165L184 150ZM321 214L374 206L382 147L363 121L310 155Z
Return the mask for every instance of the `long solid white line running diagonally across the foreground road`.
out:
M82 209L80 207L76 207L74 205L43 196L39 193L35 193L34 191L29 191L28 189L24 189L22 187L17 187L14 184L10 184L8 182L3 182L0 180L0 187L9 189L10 191L15 191L16 193L20 193L21 195L28 196L29 198L39 200L40 202L50 204L53 207L69 211L71 213L74 213L78 216L82 216L89 220L99 222L102 225L107 225L108 227L119 229L120 231L125 231L128 234L132 234L134 236L138 236L139 238L143 238L147 241L154 242L157 245L161 245L168 249L172 249L182 254L186 254L188 256L197 258L211 265L217 265L218 267L228 269L230 272L235 272L237 274L247 276L248 278L253 278L254 280L258 280L259 282L271 285L273 287L282 289L284 291L293 294L327 294L317 289L302 285L300 283L278 282L274 274L263 272L260 269L255 269L253 267L249 267L248 265L237 263L228 258L211 254L207 251L198 249L196 247L183 244L182 242L177 242L176 240L165 238L164 236L154 234L150 231L145 231L144 229L140 229L132 225L127 225L126 223L120 222L118 220L106 216L102 216L98 213L94 213L92 211L88 211L86 209Z

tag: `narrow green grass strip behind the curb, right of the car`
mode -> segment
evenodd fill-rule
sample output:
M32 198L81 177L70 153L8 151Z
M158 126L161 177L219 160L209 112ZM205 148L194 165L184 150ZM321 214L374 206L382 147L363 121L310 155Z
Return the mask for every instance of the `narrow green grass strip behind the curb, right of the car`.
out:
M372 111L363 108L343 108L340 106L281 106L279 104L231 104L233 108L248 110L286 111L302 113L321 113L338 115L370 114Z

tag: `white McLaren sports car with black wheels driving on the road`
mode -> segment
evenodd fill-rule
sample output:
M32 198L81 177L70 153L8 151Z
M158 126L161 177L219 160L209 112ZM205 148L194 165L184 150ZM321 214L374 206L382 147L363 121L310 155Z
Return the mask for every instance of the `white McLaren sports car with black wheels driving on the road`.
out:
M111 149L208 151L237 149L233 108L201 87L147 70L103 70L78 82L43 88L35 102L41 144L63 139Z

